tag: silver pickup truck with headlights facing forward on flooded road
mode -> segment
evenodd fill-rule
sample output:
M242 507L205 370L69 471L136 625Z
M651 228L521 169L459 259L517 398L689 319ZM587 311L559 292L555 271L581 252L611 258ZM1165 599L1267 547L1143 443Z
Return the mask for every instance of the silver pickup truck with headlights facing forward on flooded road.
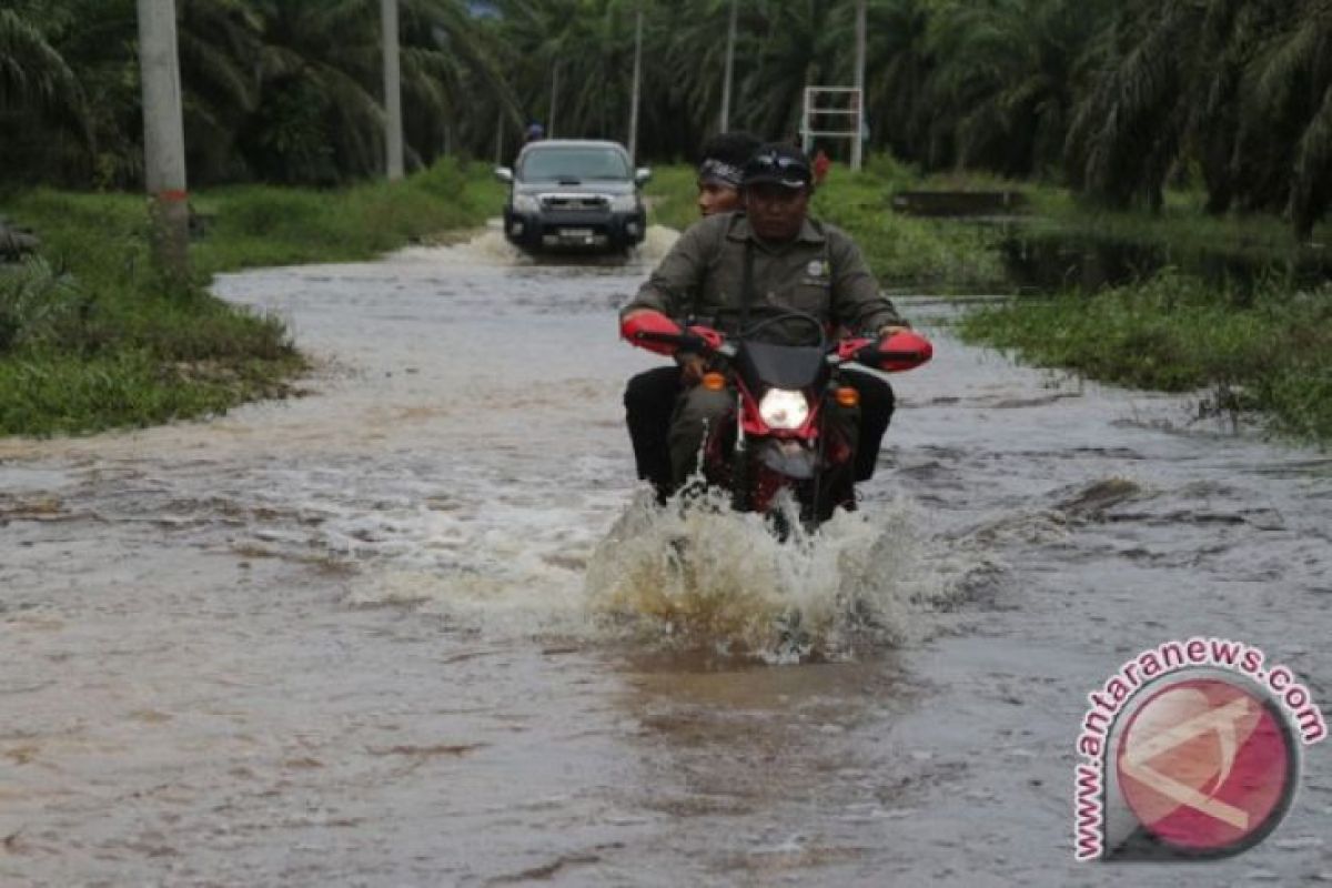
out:
M617 142L534 141L496 176L511 185L505 237L525 250L619 252L647 233L638 189L651 170L635 170Z

